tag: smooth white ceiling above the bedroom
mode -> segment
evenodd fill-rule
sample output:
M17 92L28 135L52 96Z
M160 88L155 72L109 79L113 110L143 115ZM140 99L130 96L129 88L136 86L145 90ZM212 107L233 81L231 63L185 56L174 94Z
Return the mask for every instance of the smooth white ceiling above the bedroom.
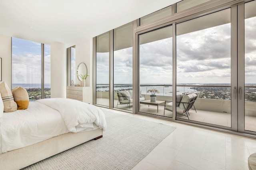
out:
M180 0L1 0L0 35L70 47Z

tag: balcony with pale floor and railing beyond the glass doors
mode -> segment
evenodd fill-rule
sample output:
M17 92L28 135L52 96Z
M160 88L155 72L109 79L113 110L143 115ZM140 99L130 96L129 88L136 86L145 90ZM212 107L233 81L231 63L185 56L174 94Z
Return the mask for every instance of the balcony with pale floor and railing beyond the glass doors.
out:
M117 87L118 86L118 87ZM124 89L132 89L132 87L128 85L117 85L114 90L122 91ZM140 89L142 90L142 94L145 95L146 100L150 100L150 94L146 93L146 90L149 88L155 87L157 89L162 89L160 93L157 94L157 100L160 101L172 101L172 93L170 88L172 86L166 85L141 85ZM169 89L168 89L168 88ZM166 90L168 89L168 90ZM230 86L188 86L188 85L179 85L176 87L177 94L181 93L196 93L198 98L194 103L196 111L194 107L189 111L189 119L191 121L197 121L202 123L208 123L213 125L219 125L224 127L231 127L231 96L230 96ZM181 90L182 89L182 90ZM249 90L251 89L251 90ZM253 90L252 90L253 89ZM254 93L252 91L256 90L256 87L246 87L246 101L245 105L245 130L250 130L256 132L256 102L251 101L254 97L252 95L248 95ZM250 91L250 93L249 93ZM256 95L256 93L254 93ZM97 104L99 105L108 105L109 103L109 92L108 91L98 91L97 96L101 98L97 98ZM250 97L249 97L250 96ZM114 92L114 107L118 109L130 110L132 111L132 107L129 109L129 105L118 105L118 97L116 92ZM153 115L160 115L163 117L172 117L171 111L166 111L164 114L164 103L160 104L158 107L154 105L144 105L140 104L140 112L149 113ZM178 118L188 119L185 116L178 115Z

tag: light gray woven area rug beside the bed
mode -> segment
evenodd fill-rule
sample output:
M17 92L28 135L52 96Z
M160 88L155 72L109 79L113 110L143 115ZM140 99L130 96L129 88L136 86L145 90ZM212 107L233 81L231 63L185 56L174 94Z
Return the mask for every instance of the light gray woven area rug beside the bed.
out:
M104 111L103 138L90 140L24 170L130 170L175 127Z

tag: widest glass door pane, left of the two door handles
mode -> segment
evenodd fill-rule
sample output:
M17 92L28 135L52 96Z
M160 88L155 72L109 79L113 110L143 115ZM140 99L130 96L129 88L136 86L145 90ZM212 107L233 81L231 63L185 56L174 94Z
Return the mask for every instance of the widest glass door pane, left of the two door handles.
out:
M197 112L177 110L177 118L231 127L230 14L229 8L176 25L176 93L198 95Z

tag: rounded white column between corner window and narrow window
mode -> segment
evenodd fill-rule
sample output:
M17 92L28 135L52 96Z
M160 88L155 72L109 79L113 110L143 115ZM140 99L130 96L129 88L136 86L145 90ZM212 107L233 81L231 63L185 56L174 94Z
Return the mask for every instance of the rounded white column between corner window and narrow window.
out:
M51 98L66 98L66 48L63 43L51 44Z

